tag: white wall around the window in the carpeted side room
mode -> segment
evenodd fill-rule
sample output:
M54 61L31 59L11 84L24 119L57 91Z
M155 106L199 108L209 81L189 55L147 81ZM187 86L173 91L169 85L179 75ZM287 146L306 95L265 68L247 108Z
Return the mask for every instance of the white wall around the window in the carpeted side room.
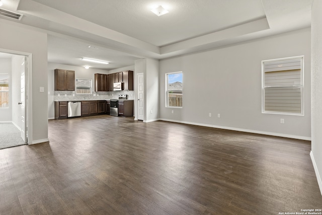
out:
M11 58L0 58L0 74L9 75L9 108L0 108L0 122L12 121L12 67Z

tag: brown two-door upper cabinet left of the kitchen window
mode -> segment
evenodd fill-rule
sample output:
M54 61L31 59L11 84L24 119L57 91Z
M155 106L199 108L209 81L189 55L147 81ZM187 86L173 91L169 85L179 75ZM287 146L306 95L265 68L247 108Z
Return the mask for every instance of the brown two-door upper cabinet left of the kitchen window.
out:
M55 69L55 91L75 91L75 71Z

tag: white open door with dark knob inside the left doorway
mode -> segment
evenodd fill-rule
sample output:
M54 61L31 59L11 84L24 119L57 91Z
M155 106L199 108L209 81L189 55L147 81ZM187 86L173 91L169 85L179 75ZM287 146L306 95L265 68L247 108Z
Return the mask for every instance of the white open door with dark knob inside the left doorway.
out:
M24 63L21 65L21 100L19 102L21 106L21 138L27 142L27 108L26 108L26 81L25 81L25 68L27 68L27 57L24 57Z

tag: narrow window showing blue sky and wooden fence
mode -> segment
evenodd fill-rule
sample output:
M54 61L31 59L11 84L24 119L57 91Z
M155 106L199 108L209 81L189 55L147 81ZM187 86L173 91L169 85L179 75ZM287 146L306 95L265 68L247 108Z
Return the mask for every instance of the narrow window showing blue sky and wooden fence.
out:
M166 74L166 107L182 108L182 71Z

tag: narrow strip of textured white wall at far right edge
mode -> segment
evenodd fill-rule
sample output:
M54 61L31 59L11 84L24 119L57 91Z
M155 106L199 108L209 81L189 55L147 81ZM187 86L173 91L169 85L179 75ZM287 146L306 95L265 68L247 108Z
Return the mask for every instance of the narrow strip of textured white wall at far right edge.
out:
M312 3L311 49L312 49L312 142L311 158L318 185L322 193L322 2Z

